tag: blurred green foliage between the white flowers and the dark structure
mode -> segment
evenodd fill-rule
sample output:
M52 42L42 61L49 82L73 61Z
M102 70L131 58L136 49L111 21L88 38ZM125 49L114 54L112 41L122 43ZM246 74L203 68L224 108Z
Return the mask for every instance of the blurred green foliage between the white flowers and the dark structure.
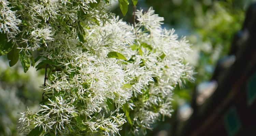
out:
M137 9L147 11L153 6L155 13L165 18L163 27L174 28L178 35L187 37L194 51L186 60L197 72L195 83L174 89L173 117L165 119L165 123L155 124L148 136L162 134L161 130L168 132L176 125L179 107L190 103L196 85L209 81L218 59L228 54L232 38L242 28L246 8L251 2L253 0L139 0ZM113 12L123 17L118 8ZM133 23L132 14L130 5L124 20ZM169 128L163 128L164 125Z

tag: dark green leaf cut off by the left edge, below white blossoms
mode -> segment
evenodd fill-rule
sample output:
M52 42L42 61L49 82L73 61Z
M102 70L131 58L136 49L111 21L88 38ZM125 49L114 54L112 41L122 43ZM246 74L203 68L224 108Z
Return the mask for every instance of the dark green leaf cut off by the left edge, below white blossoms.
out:
M0 33L0 56L12 50L13 44L11 41L6 41L6 34Z

